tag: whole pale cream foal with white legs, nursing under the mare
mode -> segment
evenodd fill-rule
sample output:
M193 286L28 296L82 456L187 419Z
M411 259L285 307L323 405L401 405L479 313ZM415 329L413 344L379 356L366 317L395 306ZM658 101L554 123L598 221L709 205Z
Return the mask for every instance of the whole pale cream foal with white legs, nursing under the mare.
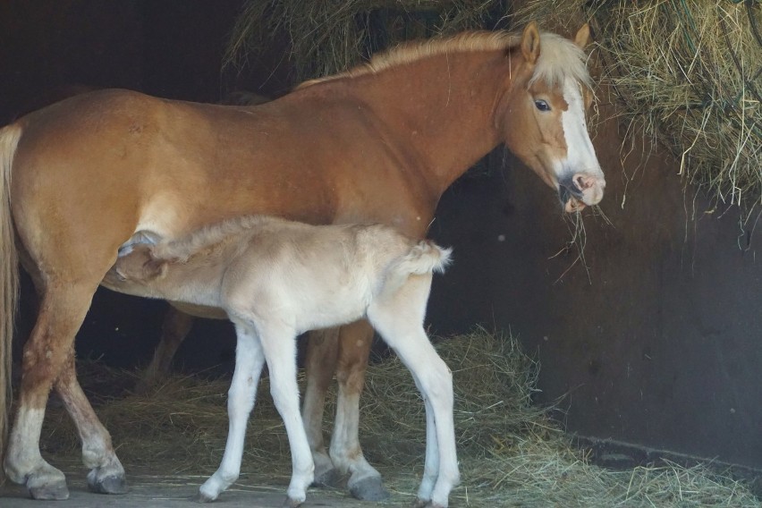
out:
M411 370L426 404L426 464L419 505L447 506L458 482L453 380L423 329L432 272L450 250L385 225L308 225L244 216L178 241L138 233L106 275L126 292L224 309L238 336L222 463L200 487L216 499L241 470L246 421L267 361L292 453L288 503L305 500L314 464L296 381L296 341L308 330L368 318Z

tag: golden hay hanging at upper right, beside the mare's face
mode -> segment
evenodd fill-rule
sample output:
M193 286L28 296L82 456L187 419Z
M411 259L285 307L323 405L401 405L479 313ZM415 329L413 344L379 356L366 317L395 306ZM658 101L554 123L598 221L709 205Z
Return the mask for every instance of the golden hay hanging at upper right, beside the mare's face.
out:
M590 20L605 80L685 182L722 203L762 200L762 3L535 0L518 16L567 29Z

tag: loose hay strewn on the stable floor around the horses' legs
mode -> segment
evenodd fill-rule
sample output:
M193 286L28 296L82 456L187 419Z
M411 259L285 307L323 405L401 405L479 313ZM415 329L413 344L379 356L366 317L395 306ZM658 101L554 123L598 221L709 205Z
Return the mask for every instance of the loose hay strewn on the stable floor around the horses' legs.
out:
M612 471L592 465L547 411L530 402L538 364L512 337L478 330L437 349L453 370L455 386L462 483L451 496L453 506L759 506L743 484L703 467L667 463ZM87 368L95 382L83 380L91 389L137 381L131 373L96 367ZM388 504L399 505L414 495L423 469L423 404L410 373L394 358L371 365L367 379L360 437L368 461L393 492ZM141 483L162 478L153 481L200 485L222 458L228 385L176 376L148 396L121 387L101 395L97 412L119 445L128 475ZM241 482L284 486L291 474L288 444L268 392L266 378L248 429ZM326 410L333 412L334 407ZM76 437L62 409L48 409L42 444L46 455L55 455L56 466L68 464L81 474L74 466ZM157 471L160 477L153 476ZM167 480L165 474L174 476Z

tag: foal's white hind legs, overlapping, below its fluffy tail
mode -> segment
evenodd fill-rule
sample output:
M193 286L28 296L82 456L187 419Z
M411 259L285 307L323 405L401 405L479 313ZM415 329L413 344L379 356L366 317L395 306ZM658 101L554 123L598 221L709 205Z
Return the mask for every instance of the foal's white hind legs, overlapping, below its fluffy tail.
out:
M458 484L453 375L423 329L431 277L411 276L394 297L371 304L368 319L410 369L426 403L427 452L417 505L445 507Z

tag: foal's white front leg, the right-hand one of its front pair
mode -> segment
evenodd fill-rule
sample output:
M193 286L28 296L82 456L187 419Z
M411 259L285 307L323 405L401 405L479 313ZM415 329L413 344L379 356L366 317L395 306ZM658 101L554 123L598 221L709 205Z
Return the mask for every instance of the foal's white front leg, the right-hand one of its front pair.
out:
M291 448L292 477L287 502L299 506L307 498L307 487L315 477L315 463L299 412L299 385L296 382L296 333L279 326L259 329L259 340L270 372L270 393L275 409L284 420Z

